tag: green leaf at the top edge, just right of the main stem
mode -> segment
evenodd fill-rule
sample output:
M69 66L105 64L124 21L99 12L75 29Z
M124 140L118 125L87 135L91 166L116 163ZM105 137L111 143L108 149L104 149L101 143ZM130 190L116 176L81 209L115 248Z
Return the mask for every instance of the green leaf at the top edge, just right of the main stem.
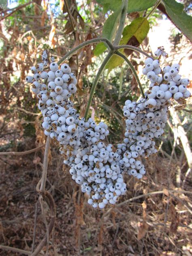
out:
M129 0L127 12L140 12L154 6L155 3L156 0Z

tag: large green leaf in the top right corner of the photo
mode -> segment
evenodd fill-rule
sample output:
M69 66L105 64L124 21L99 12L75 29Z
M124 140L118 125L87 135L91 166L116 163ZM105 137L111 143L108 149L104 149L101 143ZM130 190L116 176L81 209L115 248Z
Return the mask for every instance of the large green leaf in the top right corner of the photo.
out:
M192 17L183 11L183 4L175 0L163 0L166 12L179 30L192 41Z

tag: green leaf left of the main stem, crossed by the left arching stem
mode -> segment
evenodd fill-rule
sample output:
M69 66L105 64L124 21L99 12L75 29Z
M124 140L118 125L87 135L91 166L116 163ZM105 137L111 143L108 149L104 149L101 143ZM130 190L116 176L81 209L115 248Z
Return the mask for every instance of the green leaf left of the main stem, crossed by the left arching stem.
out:
M120 9L112 13L105 21L102 29L102 37L109 39L109 41L111 42L113 41L113 38L115 37L117 31L117 26L119 24L119 18ZM101 53L103 53L106 49L107 48L104 43L99 43L98 45L96 45L96 48L94 49L94 55L98 56Z

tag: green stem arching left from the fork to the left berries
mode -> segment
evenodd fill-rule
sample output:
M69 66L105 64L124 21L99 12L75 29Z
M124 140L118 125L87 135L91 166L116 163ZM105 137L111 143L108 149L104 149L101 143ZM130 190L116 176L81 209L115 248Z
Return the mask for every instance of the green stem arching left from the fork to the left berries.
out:
M104 42L104 43L106 43L108 49L114 50L113 45L110 43L110 41L107 38L94 38L94 39L91 39L91 40L88 40L88 41L85 41L85 42L81 43L80 45L78 45L77 47L75 47L74 49L69 51L66 55L64 55L64 57L62 57L58 61L58 65L60 65L62 62L64 62L64 60L66 60L68 57L73 55L73 53L75 53L76 51L84 48L87 45L90 45L90 44L93 44L93 43L98 43L98 42Z

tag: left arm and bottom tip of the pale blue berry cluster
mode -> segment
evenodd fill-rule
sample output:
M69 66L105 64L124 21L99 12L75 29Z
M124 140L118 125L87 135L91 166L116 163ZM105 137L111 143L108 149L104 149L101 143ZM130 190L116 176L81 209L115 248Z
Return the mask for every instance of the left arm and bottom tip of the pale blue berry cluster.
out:
M107 203L116 203L126 193L126 184L119 168L119 149L114 153L112 145L102 142L109 134L107 125L79 118L69 100L77 91L77 79L67 64L59 69L51 62L48 72L44 68L42 63L33 66L33 76L27 76L26 81L32 83L39 99L45 135L59 146L72 178L90 196L89 204L104 208Z

